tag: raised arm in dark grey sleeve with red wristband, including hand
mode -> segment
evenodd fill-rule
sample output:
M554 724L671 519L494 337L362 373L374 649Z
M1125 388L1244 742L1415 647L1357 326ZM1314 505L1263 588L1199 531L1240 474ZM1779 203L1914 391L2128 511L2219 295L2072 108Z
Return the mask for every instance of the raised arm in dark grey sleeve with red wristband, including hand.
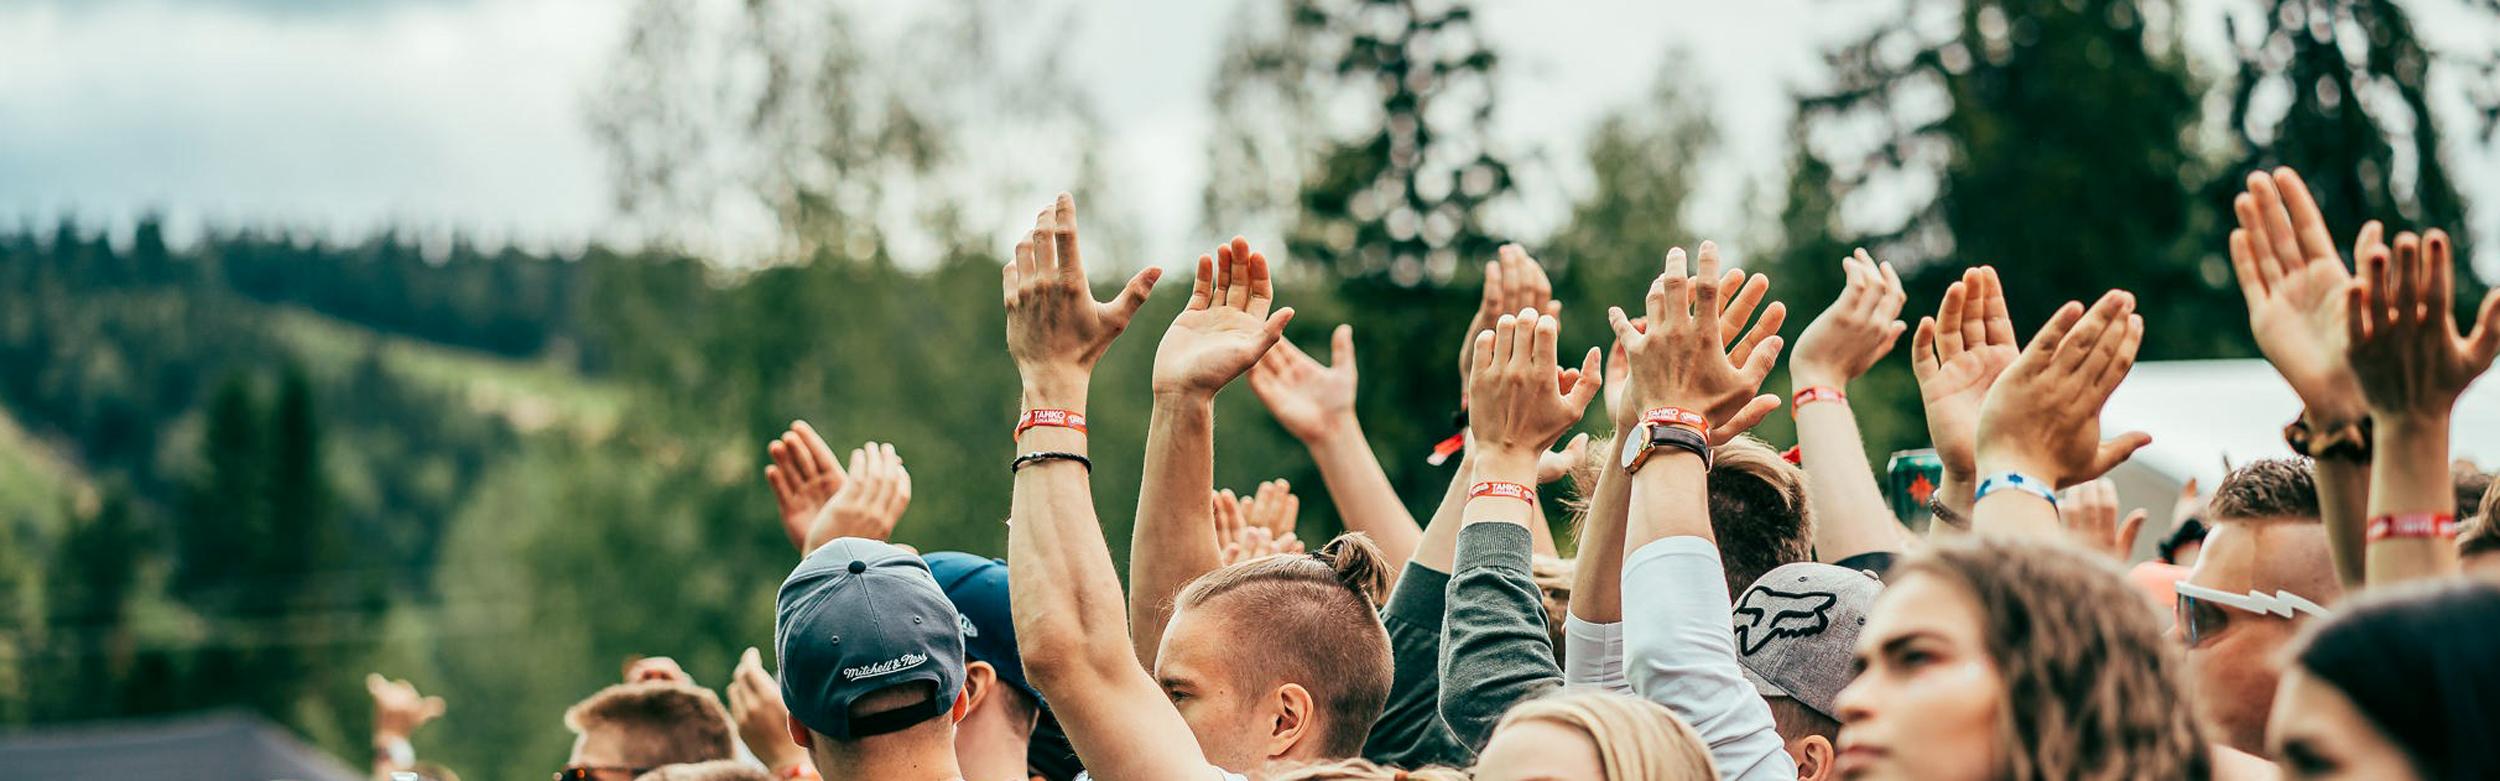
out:
M1538 523L1538 458L1598 398L1600 363L1590 348L1578 370L1558 368L1555 333L1552 315L1522 308L1475 338L1468 380L1475 476L1440 658L1440 716L1468 748L1482 746L1512 703L1562 683L1545 601L1528 573L1528 526Z

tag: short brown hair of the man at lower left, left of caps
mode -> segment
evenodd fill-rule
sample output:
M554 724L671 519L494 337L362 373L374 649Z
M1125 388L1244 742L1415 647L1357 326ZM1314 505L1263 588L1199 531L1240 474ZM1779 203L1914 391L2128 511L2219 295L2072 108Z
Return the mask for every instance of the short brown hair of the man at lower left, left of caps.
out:
M732 758L730 711L710 688L685 683L618 683L565 708L565 728L625 733L625 763L638 768Z

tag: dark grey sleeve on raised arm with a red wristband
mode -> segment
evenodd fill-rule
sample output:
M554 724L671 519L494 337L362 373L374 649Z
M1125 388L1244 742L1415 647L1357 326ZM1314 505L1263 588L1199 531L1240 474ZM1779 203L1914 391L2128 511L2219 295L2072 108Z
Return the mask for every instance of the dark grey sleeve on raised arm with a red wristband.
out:
M1460 746L1482 751L1512 703L1562 686L1545 593L1528 573L1532 541L1518 523L1458 531L1458 573L1440 646L1440 721Z

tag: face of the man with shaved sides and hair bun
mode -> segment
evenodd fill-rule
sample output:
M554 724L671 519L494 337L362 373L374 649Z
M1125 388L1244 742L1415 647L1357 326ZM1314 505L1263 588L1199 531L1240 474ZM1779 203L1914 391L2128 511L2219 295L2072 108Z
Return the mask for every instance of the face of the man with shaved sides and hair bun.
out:
M1275 721L1260 721L1265 691L1242 686L1250 676L1240 676L1245 661L1228 623L1222 611L1208 606L1175 611L1155 653L1155 683L1190 723L1208 761L1248 773L1268 763Z

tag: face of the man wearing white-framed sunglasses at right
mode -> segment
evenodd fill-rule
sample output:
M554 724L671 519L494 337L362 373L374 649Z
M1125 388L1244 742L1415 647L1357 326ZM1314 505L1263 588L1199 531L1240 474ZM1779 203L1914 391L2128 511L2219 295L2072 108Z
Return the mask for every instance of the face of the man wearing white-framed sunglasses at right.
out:
M2212 591L2248 593L2265 588L2258 583L2260 536L2290 533L2292 528L2262 528L2250 523L2215 523L2205 536L2205 556L2188 571L2188 583ZM2322 538L2320 538L2322 541ZM2202 606L2210 626L2198 646L2188 648L2188 691L2198 718L2212 728L2225 746L2248 753L2265 753L2265 713L2275 706L2275 683L2282 678L2282 646L2292 641L2292 621L2262 616L2228 606ZM2185 628L2172 626L2172 636Z

